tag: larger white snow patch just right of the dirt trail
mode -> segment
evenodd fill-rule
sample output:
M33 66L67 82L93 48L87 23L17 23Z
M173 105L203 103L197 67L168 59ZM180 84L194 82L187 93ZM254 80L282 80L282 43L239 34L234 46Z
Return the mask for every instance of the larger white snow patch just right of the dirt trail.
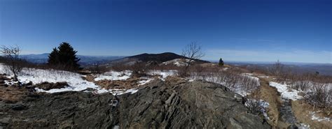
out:
M270 82L270 86L277 88L277 91L281 93L281 97L284 99L299 100L303 98L302 96L298 96L299 91L291 89L287 84Z

